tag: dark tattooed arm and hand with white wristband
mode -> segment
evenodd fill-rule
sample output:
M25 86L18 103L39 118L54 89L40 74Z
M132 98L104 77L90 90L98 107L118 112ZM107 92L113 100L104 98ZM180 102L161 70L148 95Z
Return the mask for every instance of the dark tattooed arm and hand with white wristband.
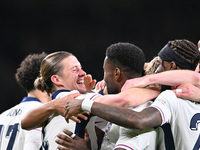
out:
M106 105L91 100L84 101L72 100L67 103L68 114L66 119L73 115L74 103L84 111L89 111L93 115L99 116L105 120L113 122L126 128L144 130L157 127L162 123L160 112L154 107L148 107L141 112L136 112L127 108Z

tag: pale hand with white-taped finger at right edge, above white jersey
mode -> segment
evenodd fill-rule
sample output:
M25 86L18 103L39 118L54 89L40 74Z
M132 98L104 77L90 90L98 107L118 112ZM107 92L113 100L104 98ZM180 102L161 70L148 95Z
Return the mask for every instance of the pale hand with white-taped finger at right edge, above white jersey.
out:
M178 86L173 92L177 97L200 102L200 88L193 84L185 83Z

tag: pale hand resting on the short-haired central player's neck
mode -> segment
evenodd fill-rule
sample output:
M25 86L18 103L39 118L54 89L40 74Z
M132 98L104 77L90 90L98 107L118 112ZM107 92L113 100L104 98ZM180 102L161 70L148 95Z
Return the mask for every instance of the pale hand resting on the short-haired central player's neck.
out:
M147 76L140 77L140 78L134 78L126 80L125 84L122 86L121 91L127 90L129 88L133 87L146 87L148 86L148 78Z

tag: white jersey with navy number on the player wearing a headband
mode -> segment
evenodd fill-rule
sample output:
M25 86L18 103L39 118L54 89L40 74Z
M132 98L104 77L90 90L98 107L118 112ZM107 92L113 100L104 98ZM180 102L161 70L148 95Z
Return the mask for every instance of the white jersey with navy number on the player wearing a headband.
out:
M200 104L177 98L173 91L167 90L151 106L160 111L162 125L170 124L175 149L200 148Z

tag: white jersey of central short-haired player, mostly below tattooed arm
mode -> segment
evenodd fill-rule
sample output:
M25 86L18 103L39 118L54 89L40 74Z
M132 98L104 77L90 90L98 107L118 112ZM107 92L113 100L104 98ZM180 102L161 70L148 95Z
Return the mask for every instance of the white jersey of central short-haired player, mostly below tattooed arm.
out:
M147 102L143 105L132 108L134 111L142 111L149 106L152 102ZM148 129L138 131L120 127L119 139L116 143L115 149L123 148L126 150L156 150L157 131Z

